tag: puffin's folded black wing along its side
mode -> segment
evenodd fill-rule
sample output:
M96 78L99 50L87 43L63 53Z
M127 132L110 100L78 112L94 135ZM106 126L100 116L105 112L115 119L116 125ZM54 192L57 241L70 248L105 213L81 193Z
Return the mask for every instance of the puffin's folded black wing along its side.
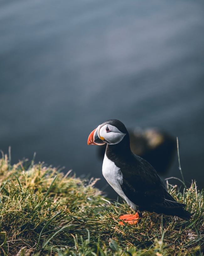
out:
M120 166L124 194L136 205L163 204L168 192L153 166L137 155L133 155L129 163ZM170 195L166 199L174 201Z

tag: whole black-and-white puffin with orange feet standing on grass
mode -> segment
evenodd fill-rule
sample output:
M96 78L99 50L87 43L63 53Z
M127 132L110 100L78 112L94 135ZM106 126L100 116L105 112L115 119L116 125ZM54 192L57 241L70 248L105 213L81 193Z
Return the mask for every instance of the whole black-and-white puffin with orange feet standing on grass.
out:
M120 224L140 222L143 211L191 219L186 205L167 192L153 166L132 153L128 131L121 121L107 120L90 133L88 145L105 143L103 176L135 212L121 215Z

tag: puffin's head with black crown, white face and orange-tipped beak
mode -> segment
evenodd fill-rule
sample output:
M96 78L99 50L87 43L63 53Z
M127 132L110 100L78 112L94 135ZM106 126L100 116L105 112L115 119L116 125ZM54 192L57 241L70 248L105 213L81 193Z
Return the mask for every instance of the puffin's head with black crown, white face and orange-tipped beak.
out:
M88 145L117 144L127 133L127 129L121 121L110 119L90 133Z

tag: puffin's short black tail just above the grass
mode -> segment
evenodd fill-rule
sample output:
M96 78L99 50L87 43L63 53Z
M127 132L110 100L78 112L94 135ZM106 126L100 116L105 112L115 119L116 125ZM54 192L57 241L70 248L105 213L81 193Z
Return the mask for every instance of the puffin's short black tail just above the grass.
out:
M185 204L176 201L165 200L155 212L190 220L192 214L183 208L185 206Z

